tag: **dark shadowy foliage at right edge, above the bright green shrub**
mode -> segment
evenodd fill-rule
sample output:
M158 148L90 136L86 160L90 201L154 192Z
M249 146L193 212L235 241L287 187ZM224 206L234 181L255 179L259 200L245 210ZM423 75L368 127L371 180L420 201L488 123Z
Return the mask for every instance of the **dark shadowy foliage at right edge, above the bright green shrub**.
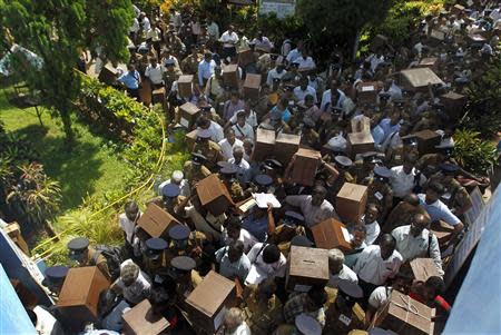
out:
M501 130L501 57L489 66L478 80L465 89L469 98L466 114L461 126L480 132L483 139L492 139Z

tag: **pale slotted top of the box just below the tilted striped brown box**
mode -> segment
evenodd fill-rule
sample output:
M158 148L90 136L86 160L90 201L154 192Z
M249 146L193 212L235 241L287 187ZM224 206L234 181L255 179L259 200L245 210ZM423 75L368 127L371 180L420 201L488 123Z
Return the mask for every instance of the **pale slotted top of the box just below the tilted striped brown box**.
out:
M328 250L291 246L288 254L291 276L315 277L328 280Z

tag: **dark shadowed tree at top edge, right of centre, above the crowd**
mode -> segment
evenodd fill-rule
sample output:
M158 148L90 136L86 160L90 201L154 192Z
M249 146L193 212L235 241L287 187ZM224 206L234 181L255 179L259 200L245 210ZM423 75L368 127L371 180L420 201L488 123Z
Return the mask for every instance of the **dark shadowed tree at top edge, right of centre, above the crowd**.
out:
M362 28L382 22L394 2L395 0L299 0L296 12L308 28L312 42L327 48L325 51L328 52L335 45L326 41L336 41L338 46L356 49Z

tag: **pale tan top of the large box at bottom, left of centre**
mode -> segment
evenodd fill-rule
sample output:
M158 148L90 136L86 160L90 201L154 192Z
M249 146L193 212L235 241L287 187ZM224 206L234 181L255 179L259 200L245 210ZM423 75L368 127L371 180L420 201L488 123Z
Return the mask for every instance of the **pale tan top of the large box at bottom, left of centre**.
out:
M189 294L186 303L212 317L234 289L235 282L210 270L204 280Z

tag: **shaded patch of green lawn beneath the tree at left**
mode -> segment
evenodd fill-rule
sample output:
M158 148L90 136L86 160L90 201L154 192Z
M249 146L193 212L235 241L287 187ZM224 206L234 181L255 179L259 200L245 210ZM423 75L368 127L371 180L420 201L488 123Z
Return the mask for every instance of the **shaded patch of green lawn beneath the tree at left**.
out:
M61 210L75 208L81 198L95 190L95 181L102 176L104 160L96 157L99 145L85 142L77 136L72 150L65 150L65 138L47 136L47 129L40 125L13 131L26 135L40 154L40 162L49 177L58 180L62 191Z

